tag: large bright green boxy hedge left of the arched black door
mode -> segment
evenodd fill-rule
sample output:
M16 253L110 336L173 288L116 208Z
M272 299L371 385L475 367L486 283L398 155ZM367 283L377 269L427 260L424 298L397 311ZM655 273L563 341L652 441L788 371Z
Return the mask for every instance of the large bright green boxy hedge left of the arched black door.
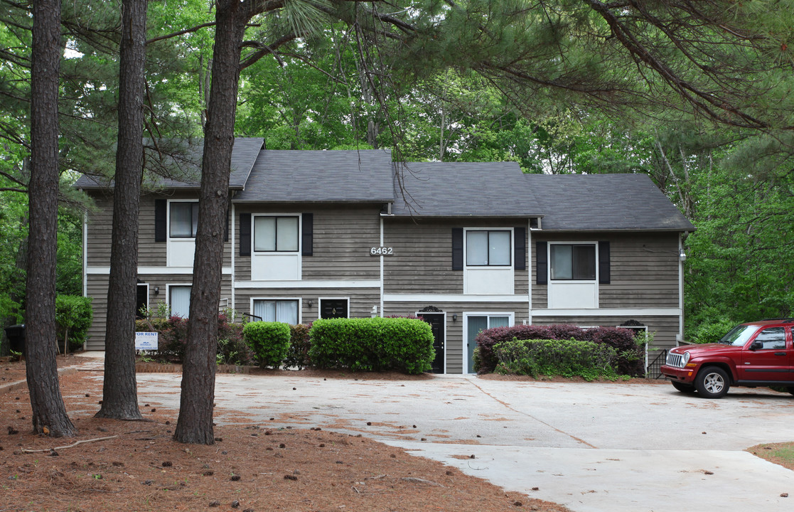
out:
M430 370L430 325L410 318L328 318L314 321L309 354L319 368L353 371Z

